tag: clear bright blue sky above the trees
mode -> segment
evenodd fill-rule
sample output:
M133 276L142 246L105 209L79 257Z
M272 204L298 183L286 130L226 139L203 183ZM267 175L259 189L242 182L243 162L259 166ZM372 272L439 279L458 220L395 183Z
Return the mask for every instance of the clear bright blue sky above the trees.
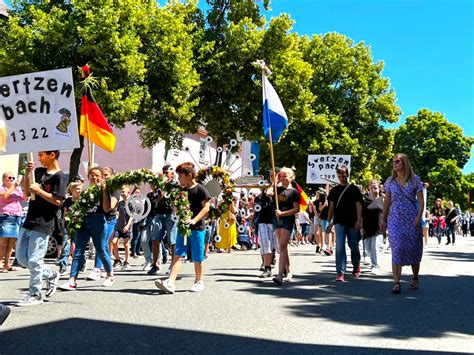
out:
M474 136L474 1L272 0L270 7L268 19L288 13L300 35L334 31L369 45L403 111L395 126L428 108Z

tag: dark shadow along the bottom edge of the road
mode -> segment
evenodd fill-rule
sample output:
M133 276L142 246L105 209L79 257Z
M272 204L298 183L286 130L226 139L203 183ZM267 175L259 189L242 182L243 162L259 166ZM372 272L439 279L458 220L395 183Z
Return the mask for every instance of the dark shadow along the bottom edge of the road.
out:
M2 355L400 353L399 349L296 344L82 318L70 318L0 332L0 351ZM403 353L435 352L403 350Z

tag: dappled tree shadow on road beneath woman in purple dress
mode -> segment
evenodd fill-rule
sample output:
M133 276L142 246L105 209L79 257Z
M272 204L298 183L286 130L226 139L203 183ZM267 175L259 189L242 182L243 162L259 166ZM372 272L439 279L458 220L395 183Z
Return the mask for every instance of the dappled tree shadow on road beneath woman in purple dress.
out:
M296 301L286 306L294 315L328 319L339 323L371 326L372 337L396 339L438 338L448 333L474 335L474 277L421 275L420 288L409 290L411 276L402 276L402 293L391 293L390 275L362 276L347 282L334 281L334 275L296 275L283 286L256 280L242 282L239 291ZM249 286L250 284L250 286Z

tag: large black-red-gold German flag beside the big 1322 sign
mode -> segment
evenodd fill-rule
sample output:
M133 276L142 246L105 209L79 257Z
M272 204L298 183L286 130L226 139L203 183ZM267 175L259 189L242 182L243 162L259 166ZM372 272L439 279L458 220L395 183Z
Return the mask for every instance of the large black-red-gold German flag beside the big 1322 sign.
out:
M115 149L112 127L88 90L82 96L80 134L110 153Z

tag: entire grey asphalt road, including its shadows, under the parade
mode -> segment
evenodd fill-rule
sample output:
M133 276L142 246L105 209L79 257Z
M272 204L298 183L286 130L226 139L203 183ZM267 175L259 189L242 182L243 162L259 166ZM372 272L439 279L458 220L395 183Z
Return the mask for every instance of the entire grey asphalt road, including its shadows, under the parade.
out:
M111 288L81 279L28 308L14 306L28 285L20 269L0 274L0 301L12 307L0 354L474 353L473 260L473 237L439 248L432 238L420 289L408 290L406 267L393 295L390 274L367 268L336 283L334 258L313 246L291 248L295 276L283 287L257 277L255 251L211 254L203 292L188 292L193 266L183 264L176 294L163 295L133 259Z

